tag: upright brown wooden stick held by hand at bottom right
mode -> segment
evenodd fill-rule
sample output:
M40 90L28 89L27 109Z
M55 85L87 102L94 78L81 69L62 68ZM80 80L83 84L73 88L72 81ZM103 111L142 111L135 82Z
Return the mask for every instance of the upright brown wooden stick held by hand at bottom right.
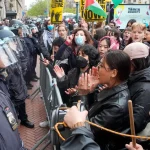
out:
M132 107L132 101L131 100L128 101L128 109L129 109L131 134L135 135L133 107ZM136 138L132 137L132 143L133 143L133 147L135 148L136 147Z

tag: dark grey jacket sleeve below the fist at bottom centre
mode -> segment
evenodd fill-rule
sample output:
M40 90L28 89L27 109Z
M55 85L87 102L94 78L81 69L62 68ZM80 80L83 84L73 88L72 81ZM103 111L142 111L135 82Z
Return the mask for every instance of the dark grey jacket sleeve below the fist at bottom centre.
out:
M61 150L100 150L93 140L93 134L85 127L73 130L72 135L62 143Z

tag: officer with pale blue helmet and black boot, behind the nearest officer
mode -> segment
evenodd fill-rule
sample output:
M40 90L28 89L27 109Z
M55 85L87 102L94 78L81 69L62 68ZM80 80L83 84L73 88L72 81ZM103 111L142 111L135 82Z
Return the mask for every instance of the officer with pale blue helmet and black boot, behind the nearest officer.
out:
M17 51L14 50L14 47L12 48L12 41L10 40L10 38L8 38L8 37L14 38L14 36L15 35L13 34L13 32L9 30L0 30L0 39L5 39L5 46L4 46L5 50ZM9 86L10 99L15 105L15 108L18 112L18 117L21 120L21 124L28 128L33 128L34 124L28 120L26 114L25 99L27 98L28 94L20 64L16 61L16 63L8 66L7 73L8 73L7 82Z

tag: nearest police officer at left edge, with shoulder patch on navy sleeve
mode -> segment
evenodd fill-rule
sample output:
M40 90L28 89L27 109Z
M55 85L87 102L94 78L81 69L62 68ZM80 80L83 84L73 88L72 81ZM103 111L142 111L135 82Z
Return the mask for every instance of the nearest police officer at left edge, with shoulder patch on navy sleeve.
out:
M0 150L25 150L18 132L18 120L15 108L10 100L6 82L7 72L5 67L13 64L7 53L4 52L3 43L0 41ZM8 52L9 53L9 52ZM9 59L8 59L9 58Z

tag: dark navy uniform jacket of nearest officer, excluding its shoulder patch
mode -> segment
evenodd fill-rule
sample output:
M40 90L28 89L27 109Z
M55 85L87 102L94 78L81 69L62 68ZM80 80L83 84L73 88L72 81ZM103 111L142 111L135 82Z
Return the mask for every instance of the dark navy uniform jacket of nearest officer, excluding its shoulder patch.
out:
M17 115L8 95L0 90L0 150L25 150L22 147L18 129L12 130L11 125L4 113L4 109L8 107L14 118Z

